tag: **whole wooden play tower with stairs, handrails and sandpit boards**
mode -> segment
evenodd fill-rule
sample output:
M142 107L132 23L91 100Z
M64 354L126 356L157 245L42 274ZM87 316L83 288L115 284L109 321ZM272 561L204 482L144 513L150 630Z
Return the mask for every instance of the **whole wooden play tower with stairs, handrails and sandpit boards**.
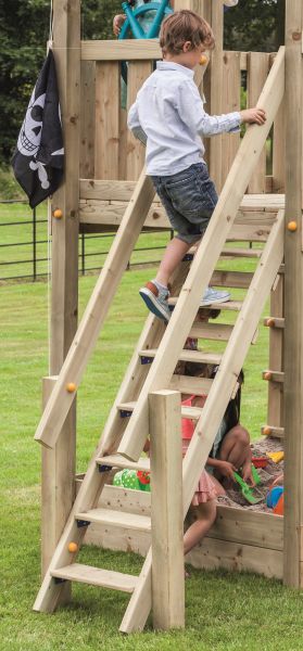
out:
M195 356L197 361L219 363L219 371L212 383L204 380L203 386L194 385L194 391L207 392L207 400L203 410L188 412L188 417L197 420L197 426L184 461L186 514L226 405L237 388L238 374L255 340L269 294L270 315L266 324L270 329L268 369L272 374L266 378L268 417L264 433L285 439L285 516L220 507L215 526L191 558L201 567L250 569L282 577L287 585L302 586L302 2L287 0L286 49L281 48L276 56L223 51L222 0L175 3L176 9L191 8L203 13L216 34L217 47L203 79L209 112L219 114L239 107L241 72L245 72L248 104L254 105L262 93L258 104L266 110L267 122L264 127L250 127L241 144L238 136L211 139L207 156L211 176L222 190L218 205L194 261L191 266L189 260L184 261L176 275L173 290L176 307L168 327L165 329L162 322L148 317L98 452L84 481L77 480L81 486L72 512L76 483L76 390L136 239L142 228L167 228L168 222L163 208L154 201L150 179L142 173L143 149L127 132L126 113L119 102L119 62L129 62L127 101L130 105L151 73L152 61L160 56L159 44L152 40L80 41L79 2L67 7L65 11L59 0L53 2L53 50L65 135L66 183L52 200L52 376L45 380L46 409L36 433L36 439L45 446L45 579L35 609L52 611L70 598L71 582L83 580L131 592L121 630L129 633L142 628L152 603L155 626L180 626L181 588L181 607L177 612L174 611L176 604L167 607L165 589L156 595L156 582L151 584L153 573L162 587L164 585L160 562L164 548L153 554L152 566L148 551L151 524L147 519L150 496L131 495L134 492L115 488L106 482L113 467L131 468L129 459L136 468L147 469L146 459L137 461L148 432L152 434L156 430L155 446L159 439L165 439L166 432L165 445L169 447L171 442L172 451L172 441L178 435L177 419L172 418L172 427L167 426L167 411L172 414L179 409L172 390L184 393L193 390L192 379L173 375L178 359L187 359L187 356L192 359L192 352L182 350L189 333L200 340L227 341L224 355L200 352ZM199 72L198 84L202 82L204 69ZM265 142L273 123L273 174L266 175ZM54 216L58 209L62 218ZM77 330L78 234L83 230L117 227L116 240ZM260 242L264 247L262 252L248 246L230 248L226 245L228 241ZM255 272L216 271L222 254L225 258L256 255ZM199 298L210 279L216 285L248 290L243 303L230 301L222 306L239 311L233 328L194 322ZM147 363L141 363L142 359ZM180 459L176 456L172 463L172 472L178 476ZM167 505L171 470L163 471L160 465L154 461L153 484L157 485L157 477L164 482L162 497L165 496ZM100 493L101 501L96 510ZM168 505L171 510L175 509L178 514L180 496L174 495ZM118 511L116 519L114 509ZM169 537L173 532L180 532L180 523L172 523L169 513L161 515L159 522L153 508L152 528L166 526L171 559ZM108 533L110 526L115 527L114 534ZM130 547L147 553L140 577L135 580L129 576L119 575L114 579L112 576L111 583L104 571L73 563L86 531L88 540L96 541L98 536L104 546ZM178 540L180 552L181 539ZM73 554L67 549L72 541L76 544ZM168 567L165 577L172 579L173 585L180 578L182 561L180 553L176 558L175 570ZM161 618L160 607L166 620Z

